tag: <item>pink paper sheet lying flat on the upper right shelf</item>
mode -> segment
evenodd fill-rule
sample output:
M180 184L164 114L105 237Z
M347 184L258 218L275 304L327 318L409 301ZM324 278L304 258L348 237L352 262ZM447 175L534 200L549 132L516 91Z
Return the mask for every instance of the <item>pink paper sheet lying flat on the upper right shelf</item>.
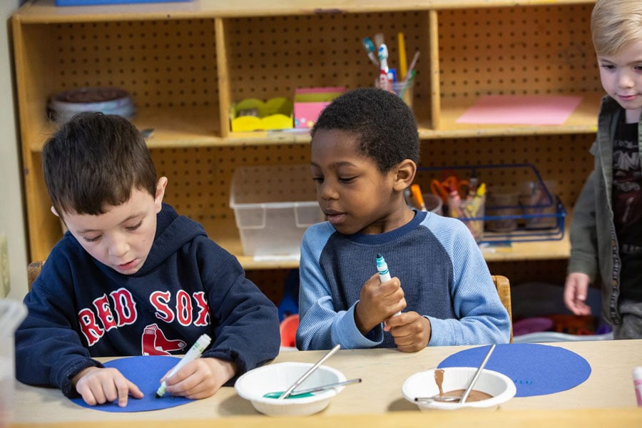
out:
M457 123L561 125L581 103L581 96L484 95Z

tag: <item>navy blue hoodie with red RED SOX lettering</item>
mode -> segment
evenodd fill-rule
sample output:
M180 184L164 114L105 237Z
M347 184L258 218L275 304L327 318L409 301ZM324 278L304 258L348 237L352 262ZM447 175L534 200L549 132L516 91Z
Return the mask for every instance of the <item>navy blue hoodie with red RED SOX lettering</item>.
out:
M122 275L66 233L24 298L16 378L77 396L71 378L92 357L185 354L203 333L203 357L235 362L237 376L279 352L277 308L203 227L163 204L148 258ZM233 384L235 378L228 384Z

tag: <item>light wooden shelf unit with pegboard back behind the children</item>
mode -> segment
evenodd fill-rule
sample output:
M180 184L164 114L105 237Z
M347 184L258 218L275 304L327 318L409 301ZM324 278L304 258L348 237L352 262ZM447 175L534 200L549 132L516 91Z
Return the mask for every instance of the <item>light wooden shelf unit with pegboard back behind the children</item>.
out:
M296 262L242 255L229 207L237 165L308 163L304 132L232 133L230 104L292 96L307 86L372 86L377 69L360 43L382 32L397 58L404 31L421 51L414 113L422 165L534 163L558 182L571 210L592 168L602 89L589 31L593 1L401 0L381 2L198 0L175 4L56 7L32 0L13 16L14 58L31 260L61 237L41 171L42 144L54 126L46 103L60 91L117 86L136 102L133 122L148 138L166 200L205 225L248 270ZM582 96L562 126L456 123L485 94ZM517 178L506 177L516 185ZM489 261L564 260L567 239L519 243ZM501 273L501 272L499 272ZM511 280L513 280L511 278Z

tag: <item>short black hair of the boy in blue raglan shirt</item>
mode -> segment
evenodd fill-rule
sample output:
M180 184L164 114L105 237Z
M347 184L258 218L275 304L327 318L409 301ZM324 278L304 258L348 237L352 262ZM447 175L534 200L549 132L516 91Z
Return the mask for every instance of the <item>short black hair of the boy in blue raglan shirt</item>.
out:
M373 158L382 173L404 159L419 163L419 133L404 101L389 91L358 88L335 98L310 131L339 129L355 133L360 151Z

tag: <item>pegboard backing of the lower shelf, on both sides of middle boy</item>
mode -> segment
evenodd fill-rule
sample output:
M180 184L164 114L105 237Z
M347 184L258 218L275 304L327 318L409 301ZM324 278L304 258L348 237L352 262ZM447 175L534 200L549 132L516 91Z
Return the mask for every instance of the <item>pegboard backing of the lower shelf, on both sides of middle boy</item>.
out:
M420 165L532 163L544 180L556 180L556 193L571 210L593 169L593 156L588 153L592 142L593 137L584 134L431 140L422 143ZM213 228L221 225L234 228L231 233L238 235L229 204L235 168L308 164L310 145L155 148L152 156L158 175L169 180L166 202L180 214L203 223L214 236L220 232ZM494 183L501 185L519 186L525 179L520 170L502 170L496 174ZM419 184L429 189L429 182Z

